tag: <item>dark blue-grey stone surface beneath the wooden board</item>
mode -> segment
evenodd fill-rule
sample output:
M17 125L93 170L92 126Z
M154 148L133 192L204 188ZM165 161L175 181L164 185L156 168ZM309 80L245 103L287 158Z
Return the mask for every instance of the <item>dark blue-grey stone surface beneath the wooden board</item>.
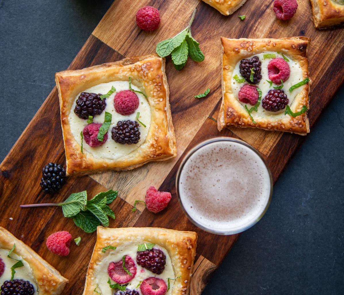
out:
M111 3L0 0L1 161ZM344 294L343 109L344 87L203 294Z

